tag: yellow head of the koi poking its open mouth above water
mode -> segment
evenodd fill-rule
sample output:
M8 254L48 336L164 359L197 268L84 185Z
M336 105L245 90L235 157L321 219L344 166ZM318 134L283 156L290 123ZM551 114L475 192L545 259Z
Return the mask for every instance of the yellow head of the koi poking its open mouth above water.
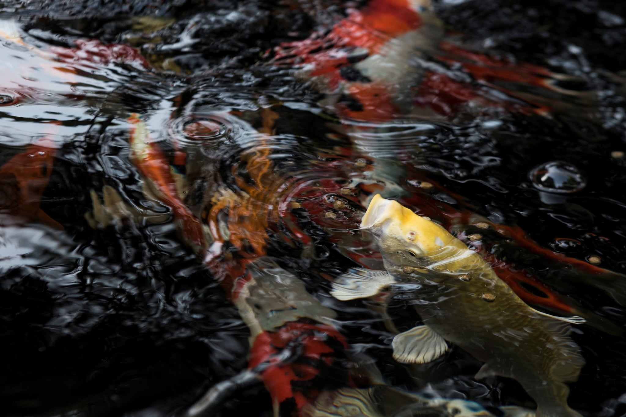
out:
M457 239L439 224L380 194L369 203L361 229L374 234L387 267L423 267L424 258L434 261L457 246Z

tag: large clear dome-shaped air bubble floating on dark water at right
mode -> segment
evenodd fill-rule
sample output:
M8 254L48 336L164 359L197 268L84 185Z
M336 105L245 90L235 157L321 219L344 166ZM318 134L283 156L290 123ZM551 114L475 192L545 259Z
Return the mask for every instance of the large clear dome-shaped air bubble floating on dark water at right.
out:
M530 171L535 188L548 193L575 193L585 188L587 179L578 168L565 161L550 161Z

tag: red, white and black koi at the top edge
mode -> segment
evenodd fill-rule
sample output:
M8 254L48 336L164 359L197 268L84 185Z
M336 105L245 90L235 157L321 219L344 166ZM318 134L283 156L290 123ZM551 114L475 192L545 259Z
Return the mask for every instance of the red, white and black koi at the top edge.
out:
M337 95L336 111L344 118L397 118L404 110L398 97L405 92L400 90L414 84L416 70L408 63L414 47L428 43L436 48L439 42L438 24L424 20L418 10L426 9L420 3L372 0L361 9L348 9L348 16L329 33L281 45L274 62L301 67L301 78L323 93ZM429 33L431 26L436 34ZM389 60L394 60L393 66L381 65Z

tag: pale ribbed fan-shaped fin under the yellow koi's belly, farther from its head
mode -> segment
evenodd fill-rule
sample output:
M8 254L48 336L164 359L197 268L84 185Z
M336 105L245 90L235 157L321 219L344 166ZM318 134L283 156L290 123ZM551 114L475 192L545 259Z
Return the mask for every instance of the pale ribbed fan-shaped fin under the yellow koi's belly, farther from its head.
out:
M448 350L444 338L426 325L396 334L391 347L399 363L428 363Z

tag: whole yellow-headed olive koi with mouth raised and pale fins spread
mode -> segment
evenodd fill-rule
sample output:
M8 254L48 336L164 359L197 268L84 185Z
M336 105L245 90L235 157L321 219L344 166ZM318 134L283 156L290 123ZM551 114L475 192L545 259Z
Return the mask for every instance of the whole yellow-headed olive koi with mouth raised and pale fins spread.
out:
M374 197L361 229L374 235L389 274L342 276L333 295L372 296L398 281L418 286L414 306L424 324L394 338L394 358L426 363L448 349L446 342L458 344L485 362L477 379L516 379L535 399L538 416L580 416L567 405L565 383L576 381L585 363L568 336L568 323L582 319L530 308L481 256L396 201Z

